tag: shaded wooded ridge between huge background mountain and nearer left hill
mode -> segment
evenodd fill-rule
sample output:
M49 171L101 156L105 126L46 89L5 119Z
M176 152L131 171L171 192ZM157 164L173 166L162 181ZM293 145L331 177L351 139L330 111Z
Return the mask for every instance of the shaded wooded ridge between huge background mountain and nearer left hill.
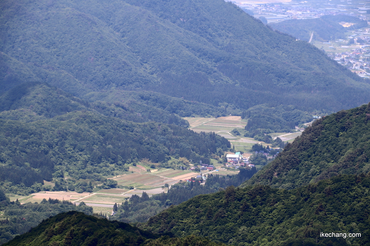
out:
M46 83L23 83L0 96L0 118L30 122L75 110L99 112L134 122L155 121L189 127L181 117L224 116L225 108L154 92L111 90L88 93L84 100Z

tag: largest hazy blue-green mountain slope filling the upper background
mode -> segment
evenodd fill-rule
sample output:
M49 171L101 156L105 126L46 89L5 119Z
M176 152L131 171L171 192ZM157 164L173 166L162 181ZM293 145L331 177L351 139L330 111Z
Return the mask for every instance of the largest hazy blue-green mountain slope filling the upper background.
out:
M222 0L6 0L0 22L4 88L20 79L74 96L140 88L239 110L369 100L369 82Z

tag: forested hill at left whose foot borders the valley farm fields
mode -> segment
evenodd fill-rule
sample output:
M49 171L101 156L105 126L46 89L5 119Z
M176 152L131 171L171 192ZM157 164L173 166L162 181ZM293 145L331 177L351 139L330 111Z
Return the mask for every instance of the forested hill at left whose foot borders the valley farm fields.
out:
M55 177L67 171L75 179L99 180L144 158L161 163L173 156L209 163L211 155L230 148L214 133L196 134L176 125L134 123L89 111L27 123L0 119L0 136L0 161L6 164L1 181L12 182L7 186L12 189L16 184L43 183L56 171ZM26 164L31 156L34 161Z

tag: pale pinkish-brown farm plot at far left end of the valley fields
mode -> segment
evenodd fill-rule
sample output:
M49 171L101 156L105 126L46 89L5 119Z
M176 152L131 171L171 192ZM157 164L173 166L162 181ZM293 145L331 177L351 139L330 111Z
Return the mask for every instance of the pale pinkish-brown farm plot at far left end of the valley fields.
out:
M58 199L58 200L68 200L75 201L82 197L89 195L90 193L77 193L77 192L63 192L63 191L42 191L38 193L31 194L30 198L22 201L21 203L26 202L41 202L44 198L48 200L49 198ZM19 198L18 198L19 199Z

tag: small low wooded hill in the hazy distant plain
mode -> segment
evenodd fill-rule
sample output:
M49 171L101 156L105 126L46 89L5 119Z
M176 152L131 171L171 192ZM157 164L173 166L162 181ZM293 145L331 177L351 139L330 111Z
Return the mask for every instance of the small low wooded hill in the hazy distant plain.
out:
M343 27L339 22L353 23L350 27ZM367 27L367 21L350 15L323 15L320 18L304 20L285 20L269 24L272 28L285 32L297 39L309 41L311 33L313 39L328 42L335 39L347 39L344 33L362 27Z

